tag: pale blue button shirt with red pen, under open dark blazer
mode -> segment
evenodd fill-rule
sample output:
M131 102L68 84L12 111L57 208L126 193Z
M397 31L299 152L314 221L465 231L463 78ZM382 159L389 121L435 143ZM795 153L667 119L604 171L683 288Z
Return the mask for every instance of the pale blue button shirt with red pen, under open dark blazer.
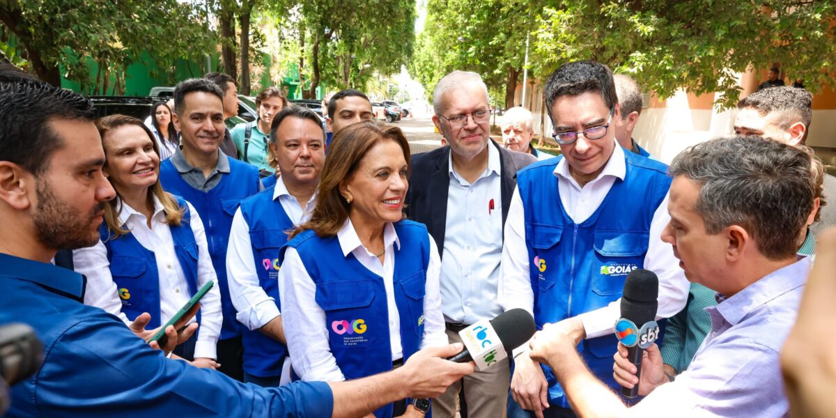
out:
M499 150L490 143L487 169L472 184L453 170L452 153L448 158L450 186L441 257L441 310L449 322L473 324L502 313L497 303L502 261L502 169Z

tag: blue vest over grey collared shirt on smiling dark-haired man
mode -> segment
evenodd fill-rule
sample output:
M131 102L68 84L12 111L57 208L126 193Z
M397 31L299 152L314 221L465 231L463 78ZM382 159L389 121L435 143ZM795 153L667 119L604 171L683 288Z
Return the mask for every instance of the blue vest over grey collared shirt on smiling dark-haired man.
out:
M177 171L171 159L160 164L160 181L166 191L183 196L195 206L201 214L203 227L206 228L206 242L209 255L217 274L217 283L221 287L221 310L223 324L221 339L231 339L241 335L241 324L235 320L236 310L229 298L227 284L227 243L232 217L242 199L258 192L259 176L256 166L237 161L227 156L229 173L221 176L217 186L208 192L199 191L186 183Z

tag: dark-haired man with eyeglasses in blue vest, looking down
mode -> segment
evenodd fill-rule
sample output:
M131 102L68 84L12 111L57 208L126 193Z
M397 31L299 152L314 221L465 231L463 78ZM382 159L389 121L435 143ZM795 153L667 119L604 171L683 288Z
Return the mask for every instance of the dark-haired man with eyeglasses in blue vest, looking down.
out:
M636 268L659 277L657 317L679 312L688 282L660 235L667 166L615 140L613 75L604 64L564 64L545 86L553 138L562 156L517 174L505 225L499 303L533 313L538 328L561 323L595 375L612 387L614 324L624 278ZM574 416L547 365L528 345L513 352L511 416ZM517 407L533 412L524 412Z

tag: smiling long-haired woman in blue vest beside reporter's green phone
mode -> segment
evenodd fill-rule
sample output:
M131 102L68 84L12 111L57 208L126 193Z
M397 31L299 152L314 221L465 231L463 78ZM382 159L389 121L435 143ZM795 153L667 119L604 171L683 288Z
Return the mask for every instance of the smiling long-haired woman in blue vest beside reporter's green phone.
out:
M84 303L130 324L145 312L149 328L171 319L205 283L217 283L206 233L195 208L164 191L154 135L125 115L96 120L104 147L103 171L116 191L104 205L101 239L74 250L75 270L87 277ZM217 368L221 293L201 299L200 329L175 350L198 367Z

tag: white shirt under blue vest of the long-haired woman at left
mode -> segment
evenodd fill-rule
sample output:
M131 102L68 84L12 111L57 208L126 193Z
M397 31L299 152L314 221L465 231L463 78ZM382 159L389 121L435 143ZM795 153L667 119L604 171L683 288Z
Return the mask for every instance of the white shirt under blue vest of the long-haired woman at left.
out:
M117 207L121 209L119 222L130 229L130 233L142 247L154 252L157 273L160 276L160 324L166 324L191 298L186 274L183 273L174 252L174 239L166 223L166 212L155 196L154 214L151 216L149 228L145 215L136 212L119 197L116 199ZM197 288L201 288L207 282L215 282L215 286L201 299L201 324L197 329L195 358L217 359L217 339L221 334L222 323L221 291L217 287L217 275L212 267L201 217L191 203L186 204L191 216L188 225L197 243ZM110 275L110 262L104 243L99 241L94 247L74 250L73 263L75 271L87 277L84 304L102 308L109 314L119 316L125 324L130 324L131 321L122 313L122 303L116 283ZM155 312L149 314L157 315ZM196 317L191 319L190 324L195 320Z

